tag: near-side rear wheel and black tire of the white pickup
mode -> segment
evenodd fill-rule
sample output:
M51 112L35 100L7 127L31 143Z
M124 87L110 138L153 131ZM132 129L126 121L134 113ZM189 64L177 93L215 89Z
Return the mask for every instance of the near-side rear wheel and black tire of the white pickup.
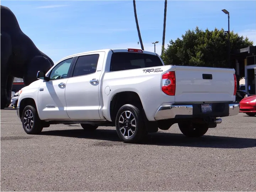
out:
M142 141L147 133L142 110L134 105L123 105L117 112L116 130L118 137L125 143Z

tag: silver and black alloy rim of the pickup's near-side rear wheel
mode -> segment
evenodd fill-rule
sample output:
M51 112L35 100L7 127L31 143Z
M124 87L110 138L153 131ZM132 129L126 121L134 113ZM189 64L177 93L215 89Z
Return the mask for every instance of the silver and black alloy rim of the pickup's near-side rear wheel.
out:
M132 137L136 130L134 114L130 111L124 111L119 117L118 127L124 137Z

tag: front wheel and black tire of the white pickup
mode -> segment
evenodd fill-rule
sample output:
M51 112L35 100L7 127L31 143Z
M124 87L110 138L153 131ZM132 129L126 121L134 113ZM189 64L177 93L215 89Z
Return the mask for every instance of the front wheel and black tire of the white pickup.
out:
M24 108L21 116L21 122L22 127L27 134L39 134L43 130L37 110L31 105Z

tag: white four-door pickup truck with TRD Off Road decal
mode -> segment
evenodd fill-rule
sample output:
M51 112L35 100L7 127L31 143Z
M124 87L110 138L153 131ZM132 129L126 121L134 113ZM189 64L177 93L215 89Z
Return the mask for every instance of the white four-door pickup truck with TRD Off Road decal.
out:
M27 134L50 124L87 131L115 126L119 138L139 142L178 123L200 137L239 113L234 69L164 65L156 53L106 49L71 55L24 87L17 115Z

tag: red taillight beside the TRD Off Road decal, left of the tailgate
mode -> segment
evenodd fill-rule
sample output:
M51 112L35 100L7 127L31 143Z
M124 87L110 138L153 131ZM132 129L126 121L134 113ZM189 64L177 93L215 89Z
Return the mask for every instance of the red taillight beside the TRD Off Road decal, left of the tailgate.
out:
M162 91L166 95L175 95L176 78L175 71L170 71L162 75Z

